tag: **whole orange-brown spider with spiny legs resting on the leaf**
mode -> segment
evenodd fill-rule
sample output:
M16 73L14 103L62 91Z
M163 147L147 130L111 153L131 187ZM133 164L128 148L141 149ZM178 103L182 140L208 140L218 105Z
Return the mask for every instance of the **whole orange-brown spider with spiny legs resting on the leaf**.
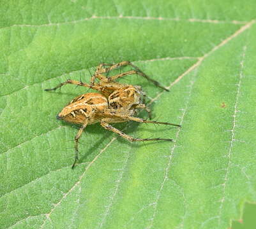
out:
M108 66L108 67L107 67ZM114 76L107 77L104 74L109 73L118 67L131 66L133 70L125 73L116 74ZM156 123L162 125L174 125L181 127L181 125L162 122L144 120L142 118L135 117L138 109L145 109L151 119L151 110L145 104L146 94L142 91L140 86L126 85L118 83L115 80L123 76L138 74L147 80L151 81L157 87L167 90L162 87L160 83L149 78L144 74L137 66L134 66L129 61L119 62L117 64L100 64L94 75L91 77L91 83L82 83L82 81L66 80L60 83L54 88L45 89L45 91L56 90L66 84L79 85L82 87L88 87L97 90L98 93L86 93L75 97L63 110L57 114L57 119L64 120L70 123L76 123L82 125L75 135L75 160L72 165L72 169L78 161L78 143L79 138L82 135L84 128L87 125L100 122L103 128L115 132L116 134L124 137L128 141L173 141L173 139L163 138L146 138L139 139L124 134L121 130L110 125L110 123L119 123L125 121L137 121L140 123ZM95 81L98 81L96 83Z

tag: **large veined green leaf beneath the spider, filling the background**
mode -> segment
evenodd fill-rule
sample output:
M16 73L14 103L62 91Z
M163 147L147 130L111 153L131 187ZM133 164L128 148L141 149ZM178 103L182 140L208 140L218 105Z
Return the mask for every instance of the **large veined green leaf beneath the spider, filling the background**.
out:
M1 1L0 228L228 228L256 201L255 1ZM100 62L130 60L153 120L56 120ZM123 69L125 71L126 69ZM146 113L139 116L146 117Z

